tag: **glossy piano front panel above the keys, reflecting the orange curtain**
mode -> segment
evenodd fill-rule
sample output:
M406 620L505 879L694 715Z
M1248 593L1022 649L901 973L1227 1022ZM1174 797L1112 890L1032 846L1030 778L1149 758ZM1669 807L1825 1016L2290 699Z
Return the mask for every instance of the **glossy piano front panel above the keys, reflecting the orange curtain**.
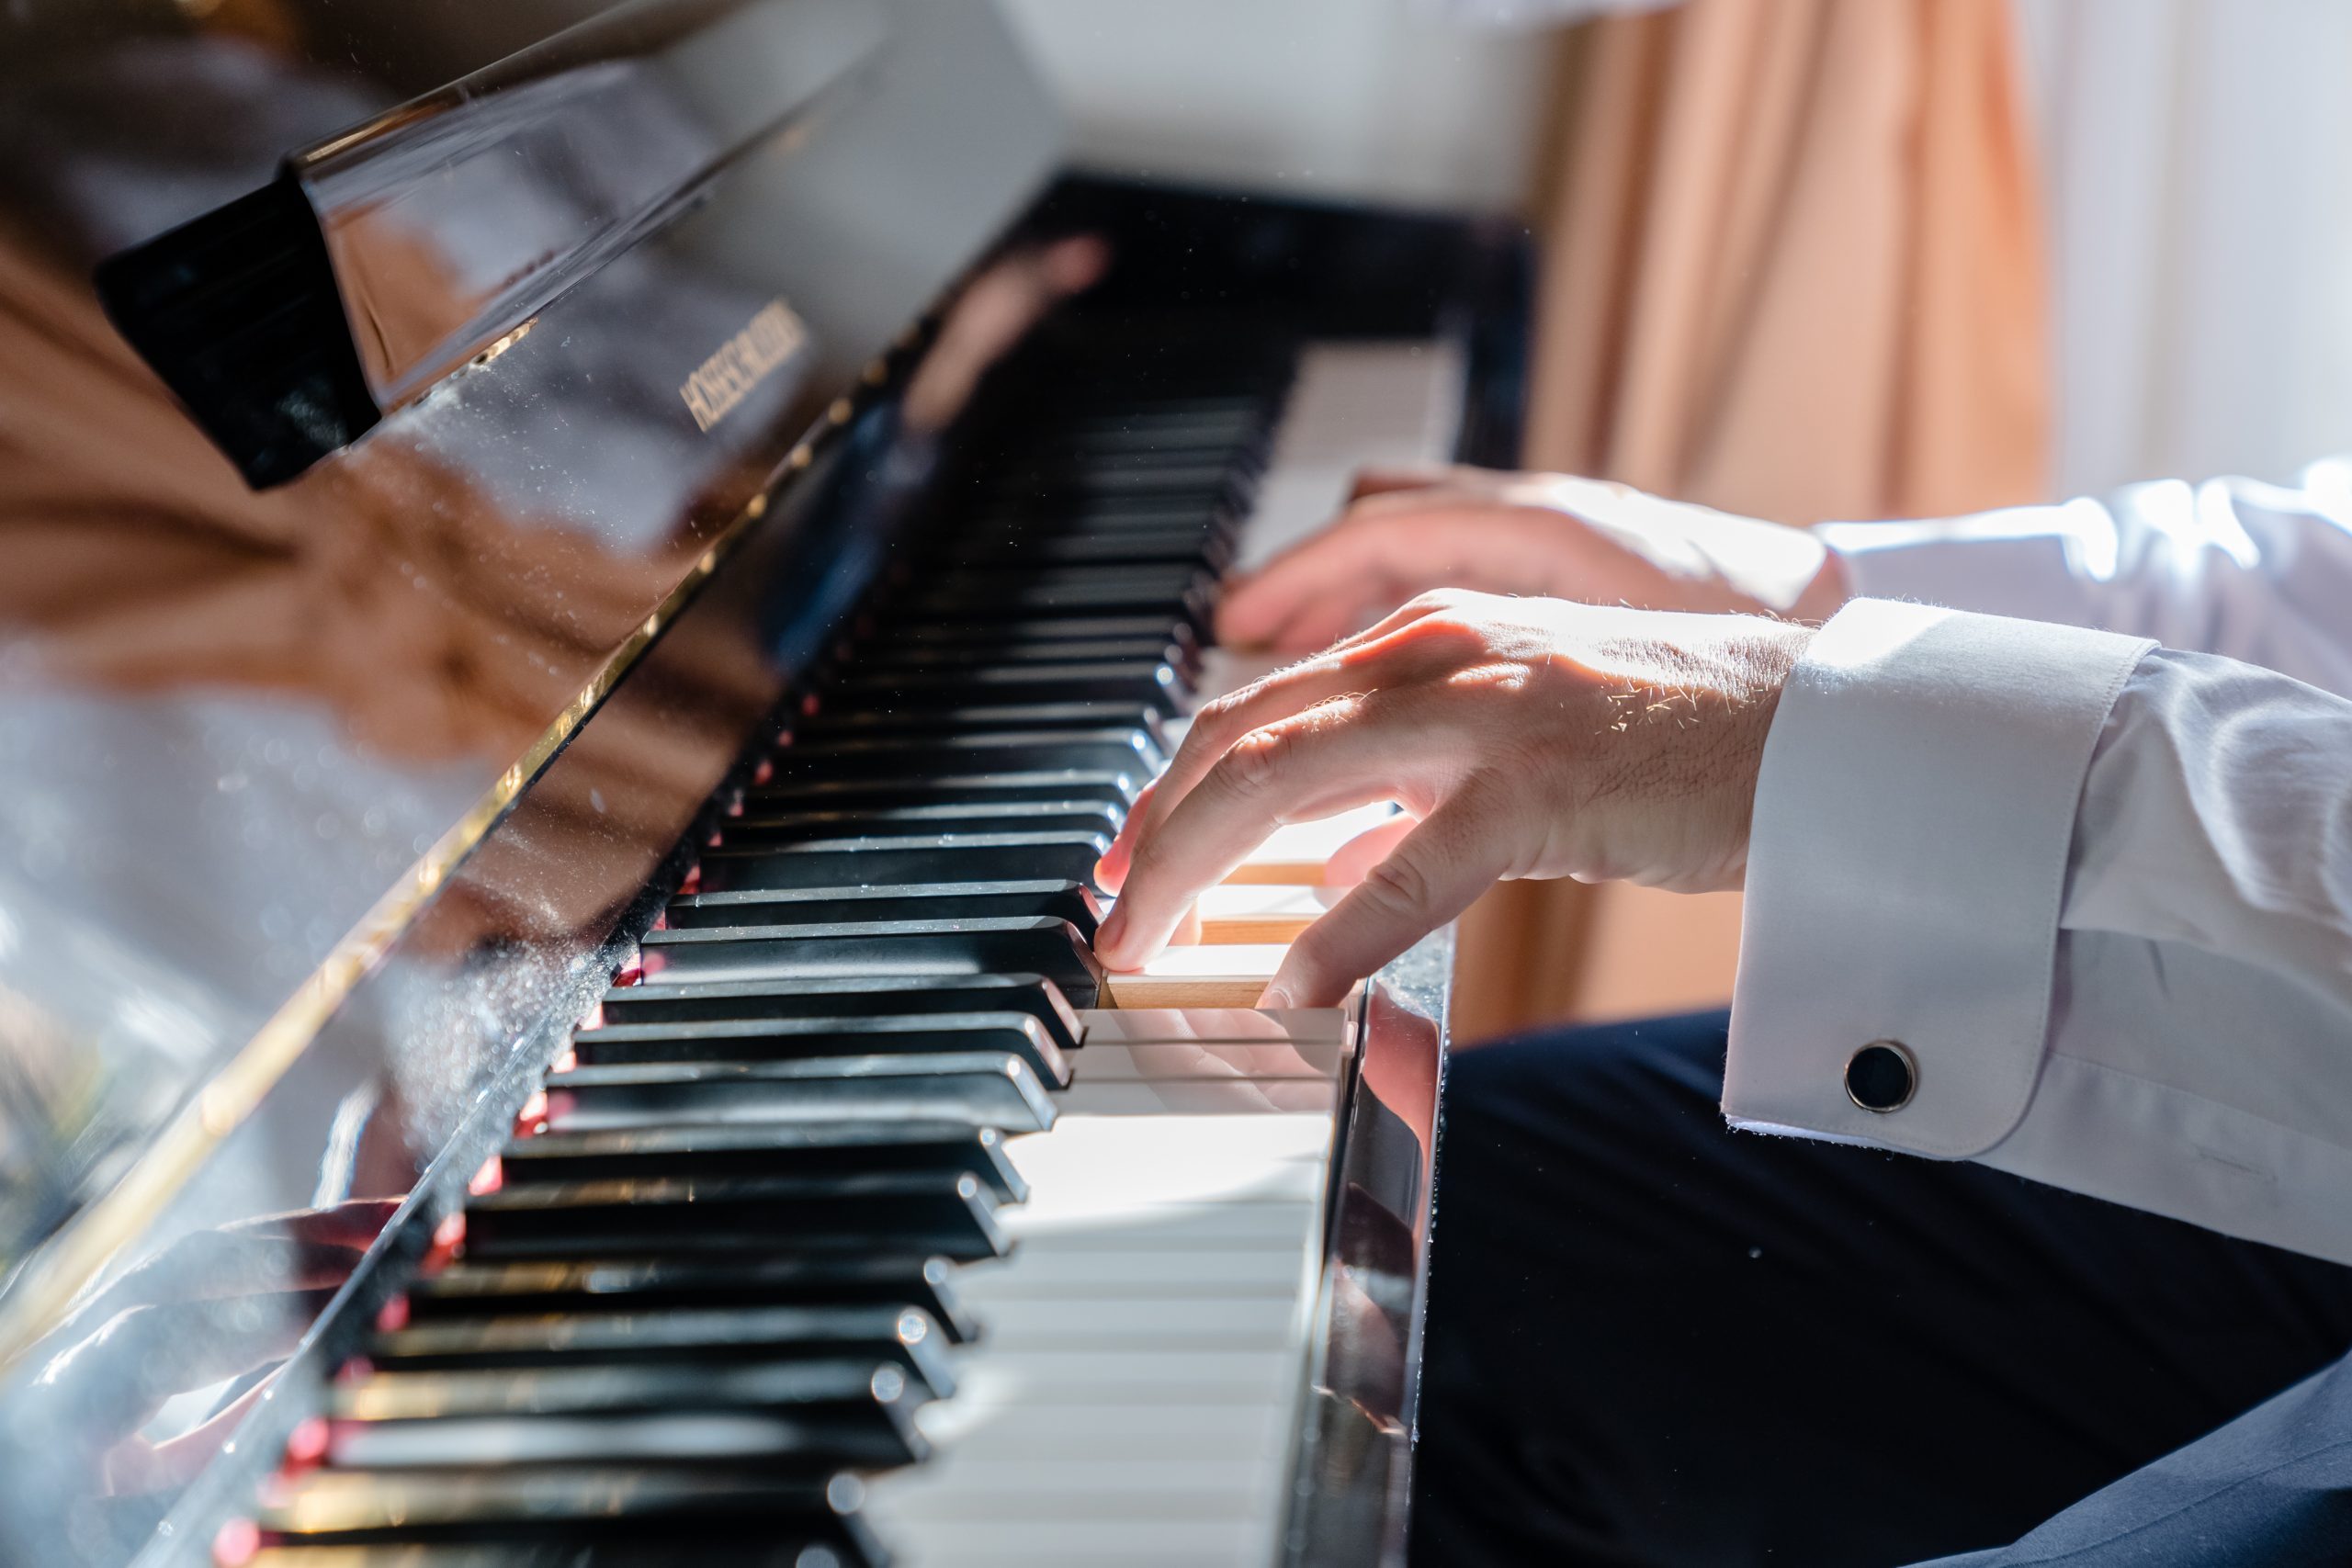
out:
M226 1135L1054 141L964 0L0 12L0 1356L87 1274L19 1265ZM567 832L652 832L583 778ZM517 910L635 891L539 851Z

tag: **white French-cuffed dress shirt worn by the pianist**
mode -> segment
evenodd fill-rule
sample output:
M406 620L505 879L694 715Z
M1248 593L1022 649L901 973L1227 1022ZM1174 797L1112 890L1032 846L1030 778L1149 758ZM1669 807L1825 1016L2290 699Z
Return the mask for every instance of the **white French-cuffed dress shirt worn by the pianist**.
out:
M2352 463L1820 536L1724 1114L2352 1262Z

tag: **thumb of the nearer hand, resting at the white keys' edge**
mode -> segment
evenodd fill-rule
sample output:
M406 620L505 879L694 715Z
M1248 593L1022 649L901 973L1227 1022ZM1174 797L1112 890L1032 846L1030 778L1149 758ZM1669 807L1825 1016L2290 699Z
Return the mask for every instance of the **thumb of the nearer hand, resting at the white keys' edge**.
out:
M1298 933L1258 1006L1334 1006L1348 987L1468 910L1510 867L1501 813L1463 790Z

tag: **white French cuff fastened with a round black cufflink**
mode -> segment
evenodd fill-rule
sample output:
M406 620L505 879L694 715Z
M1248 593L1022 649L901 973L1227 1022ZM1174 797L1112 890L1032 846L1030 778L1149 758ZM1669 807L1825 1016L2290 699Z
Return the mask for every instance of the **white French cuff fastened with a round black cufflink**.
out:
M1966 1159L2025 1114L2074 809L2152 642L1856 599L1764 743L1724 1117Z

